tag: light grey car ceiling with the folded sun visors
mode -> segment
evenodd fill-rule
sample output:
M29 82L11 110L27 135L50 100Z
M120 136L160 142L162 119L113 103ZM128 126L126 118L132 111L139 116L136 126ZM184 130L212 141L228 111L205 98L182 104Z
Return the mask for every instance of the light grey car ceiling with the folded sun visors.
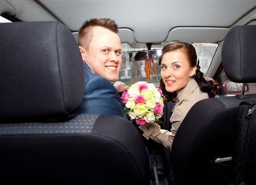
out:
M74 34L90 18L113 18L121 41L128 43L217 43L232 26L256 20L255 0L0 0L0 5L1 14L59 21Z

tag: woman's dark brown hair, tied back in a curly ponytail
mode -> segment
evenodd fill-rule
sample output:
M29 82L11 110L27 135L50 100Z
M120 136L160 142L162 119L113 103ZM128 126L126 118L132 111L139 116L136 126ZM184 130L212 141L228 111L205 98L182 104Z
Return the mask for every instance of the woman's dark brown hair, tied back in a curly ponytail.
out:
M186 42L173 42L167 44L161 52L161 57L159 59L159 65L161 60L166 52L180 50L186 54L187 59L190 61L190 67L197 66L193 78L197 81L198 86L202 92L207 92L209 98L214 98L218 94L218 84L211 78L203 76L203 73L200 71L199 60L197 58L197 52L192 44ZM197 64L198 61L198 64ZM177 96L176 92L168 92L165 88L164 81L160 80L160 87L167 101L172 101L173 98Z

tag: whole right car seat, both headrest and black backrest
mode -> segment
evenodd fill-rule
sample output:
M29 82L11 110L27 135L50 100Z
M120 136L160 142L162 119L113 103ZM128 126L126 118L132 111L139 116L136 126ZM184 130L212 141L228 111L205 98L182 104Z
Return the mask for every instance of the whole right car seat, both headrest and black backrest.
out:
M224 70L231 81L256 82L255 41L255 26L237 26L227 34L222 56ZM256 101L256 95L246 100ZM215 160L233 155L241 101L244 99L235 96L210 98L190 109L172 146L172 169L177 184L231 182L232 161L216 163Z

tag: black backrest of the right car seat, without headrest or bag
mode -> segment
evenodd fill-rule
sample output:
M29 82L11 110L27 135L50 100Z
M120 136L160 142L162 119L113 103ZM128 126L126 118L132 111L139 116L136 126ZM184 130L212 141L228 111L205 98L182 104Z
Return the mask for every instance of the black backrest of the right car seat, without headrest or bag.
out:
M249 96L256 101L256 95ZM196 103L184 118L172 147L172 169L178 184L228 184L231 163L217 158L233 155L238 105L236 97L219 97Z

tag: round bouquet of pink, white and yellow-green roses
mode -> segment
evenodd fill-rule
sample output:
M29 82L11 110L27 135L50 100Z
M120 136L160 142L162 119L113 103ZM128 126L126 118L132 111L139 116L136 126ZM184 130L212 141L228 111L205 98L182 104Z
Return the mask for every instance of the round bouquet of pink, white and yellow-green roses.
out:
M156 122L163 115L164 100L161 89L152 83L139 81L122 94L126 116L143 125Z

